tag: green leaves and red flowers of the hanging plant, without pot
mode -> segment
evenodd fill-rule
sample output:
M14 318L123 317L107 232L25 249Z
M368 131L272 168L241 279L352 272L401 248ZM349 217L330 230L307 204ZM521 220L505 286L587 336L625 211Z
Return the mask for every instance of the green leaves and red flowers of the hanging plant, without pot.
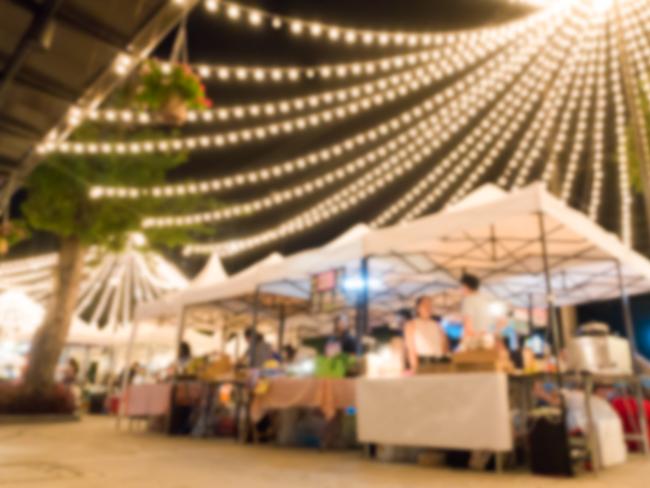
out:
M201 80L188 65L174 64L165 71L158 61L148 61L136 89L136 102L150 110L161 110L174 96L190 109L201 110L212 105Z

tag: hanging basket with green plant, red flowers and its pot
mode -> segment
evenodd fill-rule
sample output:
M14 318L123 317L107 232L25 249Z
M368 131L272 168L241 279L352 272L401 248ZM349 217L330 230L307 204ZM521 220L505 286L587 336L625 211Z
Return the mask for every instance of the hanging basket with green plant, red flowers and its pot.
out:
M212 106L205 86L187 64L148 61L140 73L136 102L145 110L155 112L160 121L182 125L189 110L205 110Z

